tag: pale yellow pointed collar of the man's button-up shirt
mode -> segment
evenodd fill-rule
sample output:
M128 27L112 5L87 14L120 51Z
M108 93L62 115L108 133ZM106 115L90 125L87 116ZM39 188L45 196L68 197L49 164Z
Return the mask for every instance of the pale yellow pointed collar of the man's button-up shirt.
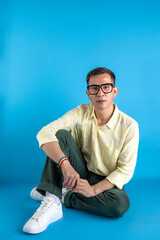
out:
M89 114L89 118L95 118L96 119L96 116L95 116L95 112L94 112L94 107L93 105L91 104L90 106L90 114ZM110 129L114 129L116 124L117 124L117 121L118 121L118 118L119 118L119 109L117 107L116 104L114 104L114 113L111 117L111 119L108 121L108 123L106 123L106 126L109 127Z

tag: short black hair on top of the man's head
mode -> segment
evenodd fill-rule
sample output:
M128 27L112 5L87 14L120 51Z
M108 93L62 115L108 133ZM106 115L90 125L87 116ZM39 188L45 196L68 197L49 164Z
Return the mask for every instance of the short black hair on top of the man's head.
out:
M91 70L86 77L86 81L87 81L87 85L89 84L89 79L92 76L96 76L99 74L104 74L104 73L108 73L111 76L111 79L113 80L113 83L115 84L115 80L116 80L116 76L115 74L109 70L108 68L105 67L98 67L98 68L94 68L93 70Z

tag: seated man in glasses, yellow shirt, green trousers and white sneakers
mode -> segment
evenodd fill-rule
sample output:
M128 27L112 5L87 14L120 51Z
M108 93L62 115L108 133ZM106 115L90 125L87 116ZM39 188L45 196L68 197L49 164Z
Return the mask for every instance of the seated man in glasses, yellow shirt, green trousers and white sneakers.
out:
M118 87L109 69L88 73L86 93L90 104L69 111L37 135L47 159L31 197L42 203L24 232L40 233L62 218L62 199L68 208L112 218L129 208L123 186L136 165L138 124L113 103Z

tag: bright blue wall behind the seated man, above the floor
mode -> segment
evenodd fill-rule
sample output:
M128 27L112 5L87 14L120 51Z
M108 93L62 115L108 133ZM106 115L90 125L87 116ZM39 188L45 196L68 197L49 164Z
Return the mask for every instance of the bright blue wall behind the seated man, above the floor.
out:
M135 178L158 178L160 157L159 1L1 1L0 177L39 179L37 132L89 100L86 74L117 76L115 103L135 118Z

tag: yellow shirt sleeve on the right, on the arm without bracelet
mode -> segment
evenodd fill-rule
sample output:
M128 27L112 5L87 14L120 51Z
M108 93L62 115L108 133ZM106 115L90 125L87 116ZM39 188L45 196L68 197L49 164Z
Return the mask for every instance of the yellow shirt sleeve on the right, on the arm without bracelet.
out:
M118 157L117 168L106 177L119 189L132 178L137 161L139 143L139 128L137 122L132 124L126 134L126 138Z

